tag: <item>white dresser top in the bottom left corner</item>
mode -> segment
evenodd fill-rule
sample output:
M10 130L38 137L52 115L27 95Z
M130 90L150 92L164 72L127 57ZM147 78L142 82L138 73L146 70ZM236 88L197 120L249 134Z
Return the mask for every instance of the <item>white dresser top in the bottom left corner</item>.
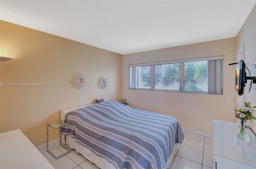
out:
M0 168L54 169L20 129L0 134Z

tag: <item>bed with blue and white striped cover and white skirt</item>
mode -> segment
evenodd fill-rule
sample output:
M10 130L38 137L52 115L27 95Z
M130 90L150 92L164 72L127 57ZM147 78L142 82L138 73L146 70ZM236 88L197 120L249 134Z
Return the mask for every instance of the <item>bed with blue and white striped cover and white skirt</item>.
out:
M104 101L61 110L67 145L102 169L166 169L178 143L180 122L169 115Z

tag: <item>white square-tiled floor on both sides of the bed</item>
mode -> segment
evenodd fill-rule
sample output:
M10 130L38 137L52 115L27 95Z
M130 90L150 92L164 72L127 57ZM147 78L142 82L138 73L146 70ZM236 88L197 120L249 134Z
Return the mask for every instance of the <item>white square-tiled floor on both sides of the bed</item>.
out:
M174 152L168 169L212 169L212 137L184 131L184 141ZM58 156L65 152L59 144L49 149ZM82 155L71 149L67 155L54 159L46 149L40 151L55 169L99 169Z

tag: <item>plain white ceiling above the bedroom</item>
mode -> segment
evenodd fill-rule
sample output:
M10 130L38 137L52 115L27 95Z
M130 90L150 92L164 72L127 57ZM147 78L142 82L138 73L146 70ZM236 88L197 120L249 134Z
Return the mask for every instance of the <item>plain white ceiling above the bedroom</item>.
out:
M256 0L0 0L0 19L130 54L236 37Z

